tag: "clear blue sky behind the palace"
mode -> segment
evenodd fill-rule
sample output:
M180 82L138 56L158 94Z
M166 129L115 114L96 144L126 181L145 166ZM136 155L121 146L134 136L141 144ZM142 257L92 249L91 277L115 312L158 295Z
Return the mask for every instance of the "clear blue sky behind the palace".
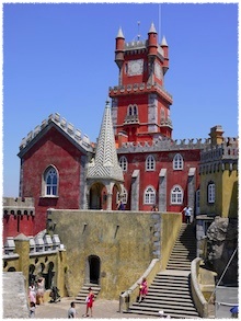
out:
M4 3L3 196L19 195L19 146L51 113L99 136L117 84L115 37L146 39L153 22L169 45L165 89L173 138L238 135L237 3Z

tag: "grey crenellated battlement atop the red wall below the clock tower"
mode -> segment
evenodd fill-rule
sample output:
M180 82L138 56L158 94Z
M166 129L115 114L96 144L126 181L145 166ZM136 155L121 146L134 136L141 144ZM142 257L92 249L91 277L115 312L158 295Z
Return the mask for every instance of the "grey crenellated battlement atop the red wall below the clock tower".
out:
M128 141L124 142L118 152L150 152L160 150L184 150L184 149L204 149L210 144L210 139L170 139L167 137L154 138L152 142L135 142Z

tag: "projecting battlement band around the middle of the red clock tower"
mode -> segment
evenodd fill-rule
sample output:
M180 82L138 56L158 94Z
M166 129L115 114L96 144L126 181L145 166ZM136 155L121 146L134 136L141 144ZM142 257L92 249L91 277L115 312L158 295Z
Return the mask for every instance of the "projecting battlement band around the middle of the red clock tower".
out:
M126 95L126 94L133 94L134 92L152 92L152 91L159 91L161 95L169 102L172 103L172 95L159 83L154 82L153 84L151 83L129 83L127 85L115 85L114 88L110 87L108 92L110 96L113 95Z

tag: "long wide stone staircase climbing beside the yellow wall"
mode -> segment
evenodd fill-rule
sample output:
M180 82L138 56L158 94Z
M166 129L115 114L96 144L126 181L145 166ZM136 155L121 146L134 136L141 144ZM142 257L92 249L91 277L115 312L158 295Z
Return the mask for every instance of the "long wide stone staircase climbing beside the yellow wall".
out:
M165 271L158 273L144 301L134 302L124 313L159 317L159 311L174 319L196 319L190 286L191 262L196 257L193 225L182 225Z

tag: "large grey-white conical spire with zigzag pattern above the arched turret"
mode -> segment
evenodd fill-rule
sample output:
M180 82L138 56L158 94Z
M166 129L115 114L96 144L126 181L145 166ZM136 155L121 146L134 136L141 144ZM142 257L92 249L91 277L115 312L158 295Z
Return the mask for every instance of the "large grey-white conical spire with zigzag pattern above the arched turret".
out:
M112 179L124 181L115 148L110 102L106 102L104 116L99 135L94 161L89 164L88 179Z

